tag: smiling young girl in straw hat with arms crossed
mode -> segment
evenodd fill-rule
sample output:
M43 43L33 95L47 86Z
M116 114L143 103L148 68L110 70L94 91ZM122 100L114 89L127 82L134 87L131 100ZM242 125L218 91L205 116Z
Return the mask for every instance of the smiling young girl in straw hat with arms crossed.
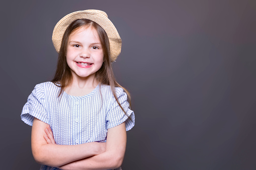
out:
M35 160L41 169L121 169L135 117L112 70L121 52L115 26L102 11L78 11L57 23L52 41L55 76L35 86L21 114Z

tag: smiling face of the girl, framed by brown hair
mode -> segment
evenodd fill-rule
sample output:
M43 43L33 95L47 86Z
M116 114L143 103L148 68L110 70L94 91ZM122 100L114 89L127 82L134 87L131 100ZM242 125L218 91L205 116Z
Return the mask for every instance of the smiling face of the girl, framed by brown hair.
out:
M97 31L80 27L72 32L67 42L67 65L73 78L94 78L103 64L103 49Z

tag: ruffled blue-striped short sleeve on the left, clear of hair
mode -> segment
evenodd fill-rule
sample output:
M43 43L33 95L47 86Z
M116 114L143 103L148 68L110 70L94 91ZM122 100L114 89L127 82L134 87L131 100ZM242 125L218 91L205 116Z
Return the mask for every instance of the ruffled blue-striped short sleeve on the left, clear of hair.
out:
M35 86L22 109L21 119L25 123L32 126L34 117L49 124L43 83Z

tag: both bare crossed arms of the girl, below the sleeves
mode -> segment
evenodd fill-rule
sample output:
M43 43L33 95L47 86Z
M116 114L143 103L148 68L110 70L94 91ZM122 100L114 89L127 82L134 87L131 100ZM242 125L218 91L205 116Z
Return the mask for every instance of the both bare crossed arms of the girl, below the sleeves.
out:
M34 118L31 145L38 163L61 169L112 169L121 166L126 147L125 123L108 129L106 143L78 145L55 144L48 127L47 123Z

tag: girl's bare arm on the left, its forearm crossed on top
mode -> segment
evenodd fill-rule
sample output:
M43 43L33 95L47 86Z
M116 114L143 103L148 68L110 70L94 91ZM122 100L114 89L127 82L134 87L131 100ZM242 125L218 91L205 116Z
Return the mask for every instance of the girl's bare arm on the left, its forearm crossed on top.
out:
M38 163L49 166L61 166L105 151L105 143L98 142L78 145L47 144L45 139L45 129L47 126L49 126L47 123L34 118L31 132L31 146L33 156Z

